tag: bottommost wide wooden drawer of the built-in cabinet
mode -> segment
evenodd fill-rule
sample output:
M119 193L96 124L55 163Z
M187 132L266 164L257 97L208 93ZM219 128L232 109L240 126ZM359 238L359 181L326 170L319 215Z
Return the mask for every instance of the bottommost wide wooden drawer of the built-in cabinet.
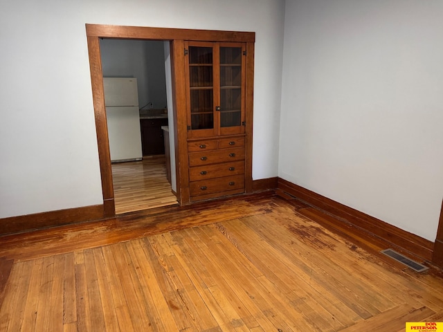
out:
M190 183L191 196L213 194L244 188L244 176L225 176L223 178L212 178L210 180L195 181Z

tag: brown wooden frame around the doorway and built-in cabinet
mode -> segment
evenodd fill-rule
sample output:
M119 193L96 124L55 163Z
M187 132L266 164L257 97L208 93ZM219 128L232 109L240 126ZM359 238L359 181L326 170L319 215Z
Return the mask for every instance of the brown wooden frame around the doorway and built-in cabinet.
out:
M214 42L244 42L247 55L246 66L246 169L245 191L253 190L252 181L252 128L253 128L253 66L255 33L190 30L175 28L150 28L138 26L110 26L102 24L86 24L87 43L89 51L89 66L91 70L91 85L93 95L94 116L98 142L98 158L102 181L103 208L105 216L115 216L114 187L112 185L111 155L105 111L105 97L102 81L102 62L100 56L100 38L109 39L147 39L170 41L171 71L172 71L172 100L174 106L174 145L177 178L177 201L181 205L190 203L189 175L187 172L188 145L186 119L186 89L184 71L184 42L214 41Z

